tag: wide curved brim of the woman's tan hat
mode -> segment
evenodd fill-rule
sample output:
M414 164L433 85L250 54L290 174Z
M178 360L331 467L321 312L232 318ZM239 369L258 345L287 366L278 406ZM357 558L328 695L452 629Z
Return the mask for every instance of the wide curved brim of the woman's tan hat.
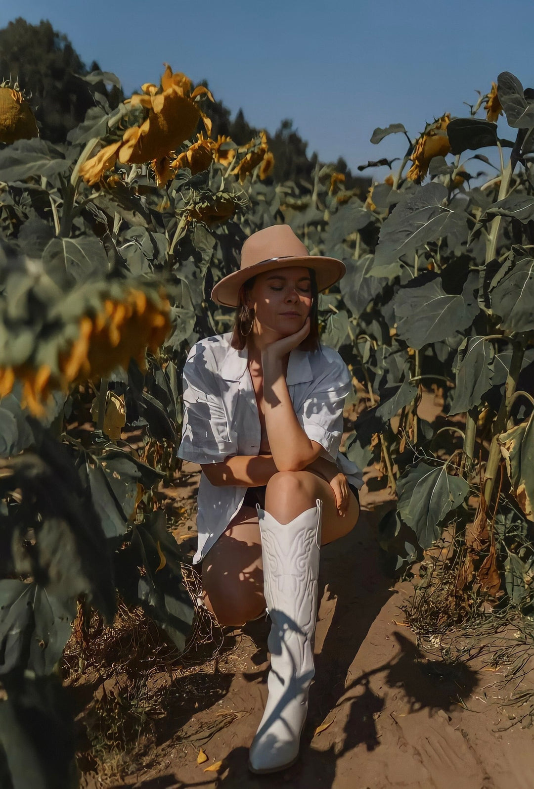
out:
M288 266L304 266L316 272L317 290L326 290L338 282L345 275L345 264L334 257L316 255L303 255L301 257L283 257L278 260L263 260L253 266L233 271L220 279L211 290L211 298L215 304L223 307L237 307L239 304L239 289L247 279L263 274L263 271L273 271L274 268L287 268Z

